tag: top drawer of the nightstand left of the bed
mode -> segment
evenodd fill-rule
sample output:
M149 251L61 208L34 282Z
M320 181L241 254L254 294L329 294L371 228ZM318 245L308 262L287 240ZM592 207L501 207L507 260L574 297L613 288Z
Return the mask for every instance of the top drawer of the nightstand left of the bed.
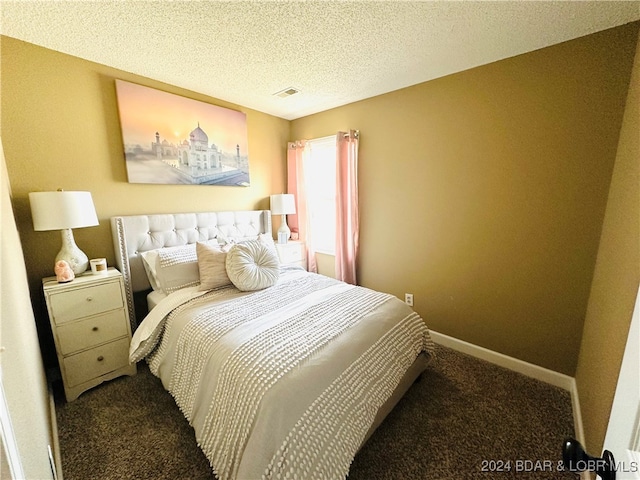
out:
M51 295L50 302L56 324L115 310L124 305L119 282L55 293Z

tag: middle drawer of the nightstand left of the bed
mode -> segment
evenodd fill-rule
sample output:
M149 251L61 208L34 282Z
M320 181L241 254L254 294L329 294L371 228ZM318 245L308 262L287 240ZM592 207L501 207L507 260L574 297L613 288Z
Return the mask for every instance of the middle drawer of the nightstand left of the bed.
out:
M127 317L123 309L112 310L104 315L98 315L79 322L66 323L56 331L60 353L84 350L114 338L129 334Z

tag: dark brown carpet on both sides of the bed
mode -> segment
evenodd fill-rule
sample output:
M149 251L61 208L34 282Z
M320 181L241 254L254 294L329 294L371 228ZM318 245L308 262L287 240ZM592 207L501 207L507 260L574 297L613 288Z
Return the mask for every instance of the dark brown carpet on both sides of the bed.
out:
M212 479L193 429L146 364L67 403L54 385L66 480ZM349 480L576 479L568 392L438 346L356 456Z

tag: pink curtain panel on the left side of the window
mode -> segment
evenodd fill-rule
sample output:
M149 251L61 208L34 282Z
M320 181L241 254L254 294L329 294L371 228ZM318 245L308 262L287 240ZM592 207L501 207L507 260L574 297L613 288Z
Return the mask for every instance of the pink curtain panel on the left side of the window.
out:
M307 250L307 270L317 273L316 253L311 238L311 223L307 203L305 163L309 156L309 147L305 140L289 142L287 145L287 192L293 193L296 201L296 214L289 216L289 228L305 242Z

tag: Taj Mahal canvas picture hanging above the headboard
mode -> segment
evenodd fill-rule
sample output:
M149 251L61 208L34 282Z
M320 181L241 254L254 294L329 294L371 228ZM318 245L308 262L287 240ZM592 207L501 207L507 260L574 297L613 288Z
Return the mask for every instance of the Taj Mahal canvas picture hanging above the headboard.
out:
M116 80L129 183L249 186L242 112Z

